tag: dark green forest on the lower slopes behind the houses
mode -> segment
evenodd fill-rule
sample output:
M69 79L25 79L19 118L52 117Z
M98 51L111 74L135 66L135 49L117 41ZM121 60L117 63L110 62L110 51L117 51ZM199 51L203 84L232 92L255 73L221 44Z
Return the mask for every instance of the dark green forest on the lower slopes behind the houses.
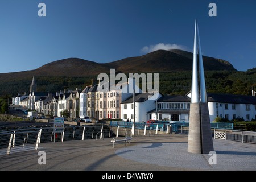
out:
M128 75L127 75L128 76ZM81 88L91 84L97 76L36 77L38 91L56 92L64 89ZM186 94L191 90L191 71L159 73L159 91L163 94ZM31 80L13 80L0 82L0 96L16 96L17 93L29 92ZM205 71L205 84L208 92L251 95L251 88L256 88L256 68L247 72Z

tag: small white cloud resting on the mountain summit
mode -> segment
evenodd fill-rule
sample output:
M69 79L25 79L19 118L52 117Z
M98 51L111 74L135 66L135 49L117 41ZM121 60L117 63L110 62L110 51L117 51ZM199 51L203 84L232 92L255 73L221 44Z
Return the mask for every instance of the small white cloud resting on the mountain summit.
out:
M171 49L180 49L183 51L190 51L189 48L187 48L186 46L183 46L183 45L159 43L156 45L144 46L141 49L141 52L142 53L150 53L150 52L157 51L157 50L167 50L168 51Z

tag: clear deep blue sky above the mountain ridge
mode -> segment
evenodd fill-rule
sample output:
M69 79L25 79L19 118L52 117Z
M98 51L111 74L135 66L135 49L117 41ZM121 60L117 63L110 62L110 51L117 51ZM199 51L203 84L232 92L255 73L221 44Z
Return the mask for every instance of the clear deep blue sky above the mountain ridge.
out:
M0 0L0 73L68 57L107 63L157 48L192 51L196 18L203 54L246 71L256 67L255 9L255 0Z

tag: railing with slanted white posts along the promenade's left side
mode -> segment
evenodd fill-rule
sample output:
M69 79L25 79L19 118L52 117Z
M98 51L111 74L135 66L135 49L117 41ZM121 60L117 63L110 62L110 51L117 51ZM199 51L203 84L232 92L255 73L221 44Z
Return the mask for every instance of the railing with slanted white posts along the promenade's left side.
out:
M53 127L28 128L0 132L0 148L7 148L6 154L10 154L11 148L16 146L35 145L37 150L40 143L64 142L67 140L85 140L113 137L115 134L109 126L65 126L64 132L54 133Z

